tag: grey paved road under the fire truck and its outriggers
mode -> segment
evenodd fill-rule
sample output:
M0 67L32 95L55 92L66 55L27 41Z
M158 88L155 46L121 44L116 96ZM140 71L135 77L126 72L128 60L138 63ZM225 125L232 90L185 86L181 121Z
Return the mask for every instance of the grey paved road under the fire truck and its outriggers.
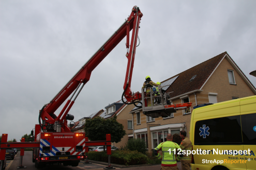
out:
M81 161L77 167L72 166L63 166L62 164L54 164L54 165L47 165L46 167L42 168L42 170L57 170L57 169L91 169L91 170L102 170L107 165L102 165L99 163L92 163L92 164L83 164L84 162ZM17 170L17 167L20 165L20 152L16 155L14 160L7 160L6 163L6 170ZM26 166L26 169L36 170L35 163L32 162L32 151L25 151L24 157L23 157L23 166ZM181 170L180 162L177 163L178 168ZM113 167L115 165L113 164ZM116 167L116 169L120 169L119 167ZM125 167L122 168L122 170L155 170L155 169L161 169L161 165L149 165L149 166L136 166L136 167Z

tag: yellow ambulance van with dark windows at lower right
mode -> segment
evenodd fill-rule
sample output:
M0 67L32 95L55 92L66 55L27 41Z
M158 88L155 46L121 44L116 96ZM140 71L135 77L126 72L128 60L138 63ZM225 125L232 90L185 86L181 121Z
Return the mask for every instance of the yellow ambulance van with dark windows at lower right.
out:
M191 169L256 169L256 96L193 110Z

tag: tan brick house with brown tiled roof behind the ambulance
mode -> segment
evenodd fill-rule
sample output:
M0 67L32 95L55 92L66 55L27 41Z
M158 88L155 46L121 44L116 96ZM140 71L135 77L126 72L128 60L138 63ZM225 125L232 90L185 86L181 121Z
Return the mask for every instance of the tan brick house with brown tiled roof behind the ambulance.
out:
M178 76L178 77L177 77ZM177 77L167 89L172 104L191 102L192 106L204 103L219 103L236 98L252 96L256 89L239 69L227 52L204 61L169 79ZM168 81L164 80L161 83ZM152 118L142 113L142 109L133 108L130 113L133 120L135 138L144 139L151 151L166 141L167 133L190 131L190 118L193 107L179 110L171 116ZM187 133L189 137L189 133Z

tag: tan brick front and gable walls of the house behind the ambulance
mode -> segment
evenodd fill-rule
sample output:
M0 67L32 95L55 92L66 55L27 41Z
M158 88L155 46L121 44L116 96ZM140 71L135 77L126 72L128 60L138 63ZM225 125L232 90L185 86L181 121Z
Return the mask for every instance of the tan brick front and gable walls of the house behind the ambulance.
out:
M236 82L235 85L229 83L228 69L234 71L234 77ZM226 58L222 60L222 62L219 64L215 72L205 83L202 90L203 90L202 92L197 92L195 94L192 93L188 95L189 102L192 103L192 106L190 108L191 112L193 111L193 106L209 103L208 93L217 93L218 103L222 101L231 100L232 97L242 98L242 97L255 95ZM197 96L197 104L195 102L195 95ZM180 104L182 103L182 99L176 98L176 99L173 99L172 102L173 104ZM161 125L185 123L186 128L180 127L180 130L182 129L186 130L187 136L188 138L190 138L189 131L190 131L191 114L184 115L182 110L179 110L176 113L174 113L174 117L166 118L166 119L163 119L162 117L158 117L158 118L155 118L154 122L148 122L148 123L146 122L146 115L144 115L142 111L140 111L141 124L139 125L137 125L136 113L132 113L132 114L133 114L134 130L143 129L143 128L147 129L147 131L144 131L141 133L147 133L149 151L152 151L152 145L153 145L152 132L154 132L153 130L150 131L150 126L152 127L152 126L159 126L159 125L161 126ZM178 127L175 127L174 129L177 129L177 128ZM172 130L172 128L170 128L170 130ZM139 133L140 132L134 133L134 137L137 138L137 134Z

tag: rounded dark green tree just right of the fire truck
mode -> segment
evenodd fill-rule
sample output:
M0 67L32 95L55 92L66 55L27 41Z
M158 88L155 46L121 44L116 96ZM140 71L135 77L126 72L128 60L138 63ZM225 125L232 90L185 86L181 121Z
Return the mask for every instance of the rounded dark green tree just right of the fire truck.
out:
M120 142L126 132L116 118L115 115L106 120L100 116L87 119L84 125L85 136L91 141L106 141L106 134L111 134L111 142Z

